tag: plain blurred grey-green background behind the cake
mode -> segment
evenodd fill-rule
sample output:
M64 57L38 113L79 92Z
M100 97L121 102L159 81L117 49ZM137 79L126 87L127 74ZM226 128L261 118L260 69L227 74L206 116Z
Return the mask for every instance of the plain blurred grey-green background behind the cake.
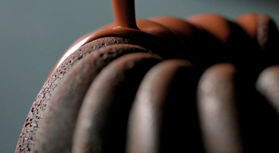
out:
M215 12L234 19L278 1L136 0L137 18ZM113 21L110 0L0 0L0 152L14 152L27 113L49 71L81 35Z

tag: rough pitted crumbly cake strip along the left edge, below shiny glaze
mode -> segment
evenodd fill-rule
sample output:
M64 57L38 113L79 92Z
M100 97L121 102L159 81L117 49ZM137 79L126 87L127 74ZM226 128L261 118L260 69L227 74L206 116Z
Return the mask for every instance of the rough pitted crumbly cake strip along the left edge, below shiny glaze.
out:
M49 79L44 83L28 113L26 121L20 133L15 152L31 152L34 146L37 130L44 117L44 112L51 96L56 91L63 76L70 71L76 61L85 57L88 53L113 44L133 44L141 45L138 41L121 37L105 37L87 43L72 53L63 63L53 72Z

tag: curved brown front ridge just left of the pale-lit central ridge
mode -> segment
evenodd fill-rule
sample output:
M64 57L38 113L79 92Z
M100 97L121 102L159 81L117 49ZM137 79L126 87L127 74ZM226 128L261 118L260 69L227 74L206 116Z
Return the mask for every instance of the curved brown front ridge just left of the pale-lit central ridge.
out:
M125 152L128 114L135 93L145 73L161 60L150 53L127 54L101 71L83 101L73 152Z

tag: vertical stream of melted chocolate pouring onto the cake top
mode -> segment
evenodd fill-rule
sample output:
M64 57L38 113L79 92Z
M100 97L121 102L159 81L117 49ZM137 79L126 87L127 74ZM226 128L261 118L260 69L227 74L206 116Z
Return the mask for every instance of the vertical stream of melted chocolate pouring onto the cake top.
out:
M137 29L134 0L112 0L115 27Z

